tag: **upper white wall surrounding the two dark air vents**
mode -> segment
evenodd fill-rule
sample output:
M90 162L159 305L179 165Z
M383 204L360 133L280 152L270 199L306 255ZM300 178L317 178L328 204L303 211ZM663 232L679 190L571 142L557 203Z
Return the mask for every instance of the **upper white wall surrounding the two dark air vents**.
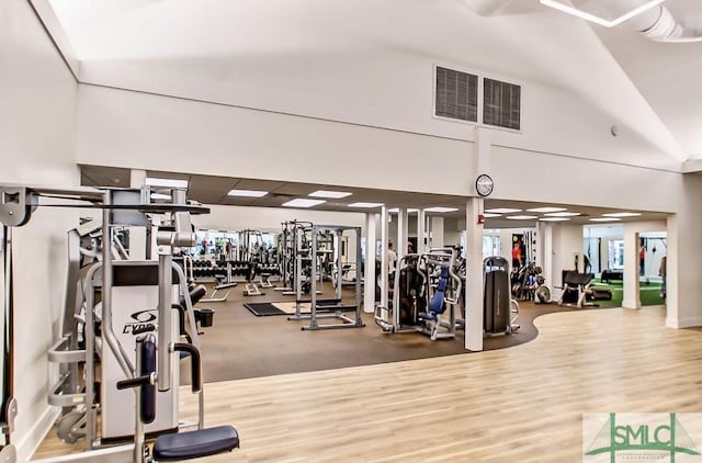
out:
M107 20L56 3L59 16L87 14L75 36L86 82L473 140L471 125L432 116L440 64L522 84L522 135L500 132L497 143L647 163L675 145L592 29L547 11L485 18L460 1L211 0ZM578 60L564 68L573 49Z

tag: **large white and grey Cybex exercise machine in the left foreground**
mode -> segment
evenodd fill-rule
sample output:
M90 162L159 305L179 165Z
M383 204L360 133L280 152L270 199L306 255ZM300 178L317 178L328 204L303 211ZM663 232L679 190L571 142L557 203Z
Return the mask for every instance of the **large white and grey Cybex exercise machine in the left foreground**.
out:
M144 191L145 190L145 191ZM84 425L78 426L80 420L71 419L70 427L76 432L82 432L86 439L87 451L71 454L66 458L52 459L53 462L75 461L75 462L148 462L152 456L146 451L144 445L144 422L149 422L151 432L173 432L174 422L178 428L177 406L178 406L178 363L177 357L184 351L192 358L192 384L194 391L202 387L202 371L200 362L200 347L197 330L195 327L195 315L192 301L188 291L188 281L183 269L173 262L176 247L192 247L194 234L190 222L190 214L208 213L208 210L199 205L186 204L184 191L172 191L172 203L169 204L144 204L141 199L150 197L148 187L139 190L101 190L92 188L37 188L23 185L0 185L0 222L3 224L3 259L5 292L4 307L5 317L3 321L10 327L5 332L12 332L11 323L13 315L13 286L12 286L12 240L11 229L15 226L26 224L34 210L42 205L42 196L50 196L54 200L67 200L76 207L103 210L103 241L110 242L112 227L120 221L121 225L150 226L147 214L165 214L160 221L162 228L156 234L158 246L158 261L131 262L113 261L112 247L102 246L101 260L87 267L86 274L81 280L79 289L81 297L77 297L76 307L82 308L84 313L84 334L82 341L78 341L77 334L68 336L65 334L59 342L66 346L61 351L49 353L49 358L58 359L63 364L75 364L80 366L81 377L84 381L69 381L70 374L63 375L59 380L59 387L66 385L78 385L65 391L52 388L50 397L59 400L64 408L70 408L69 404L82 407L84 413ZM68 204L60 204L67 206ZM95 276L101 275L101 302L94 301L97 281ZM146 278L145 280L141 280ZM156 284L151 284L151 281ZM184 297L188 319L190 320L190 336L192 342L179 342L180 332L174 326L172 318L172 302L178 294L189 295ZM118 308L125 298L139 297L147 301L156 295L156 303L152 307L138 309L134 313L126 313L127 323L124 323L123 315ZM134 306L129 307L134 310ZM65 313L71 321L75 321L76 314L73 307L67 307ZM158 324L157 324L158 321ZM100 332L95 332L95 327L100 327ZM117 336L115 327L120 331ZM146 336L144 336L146 334ZM76 341L73 343L73 340ZM133 341L132 341L133 340ZM4 339L8 352L12 352L11 337ZM136 355L131 353L129 342L136 347ZM72 345L72 347L71 347ZM146 347L144 347L146 346ZM140 352L140 354L139 354ZM140 358L140 359L139 359ZM5 358L7 359L7 358ZM95 384L95 360L101 361L102 383L111 382L111 387L103 386L98 398L94 392ZM144 361L143 361L144 360ZM158 368L156 366L158 365ZM3 410L2 419L11 425L13 410L16 409L11 398L12 384L12 361L5 360L3 365L4 384L2 389ZM71 369L69 369L70 371ZM118 377L114 381L114 377ZM78 380L73 377L73 380ZM8 387L10 385L10 387ZM135 402L131 403L128 395L122 393L124 388L134 387ZM65 392L66 394L59 394ZM146 405L141 404L140 395L147 396ZM156 395L158 394L158 399ZM58 396L63 395L63 398ZM201 396L202 397L202 396ZM132 407L131 404L135 406ZM140 408L141 413L136 413ZM120 427L125 417L129 416L128 409L133 409L134 427L125 436ZM98 417L100 413L100 417ZM231 451L239 445L238 436L233 427L204 428L202 419L202 408L200 410L199 429L190 432L178 432L169 434L167 439L158 441L158 449L155 449L154 458L160 461L185 460L199 456L211 455L219 452ZM100 419L98 419L100 418ZM173 418L176 419L173 421ZM60 426L60 425L59 425ZM3 426L5 434L5 445L0 455L3 462L12 462L12 447L10 443L11 426ZM98 429L102 429L101 434ZM148 431L148 429L146 429ZM112 436L116 438L134 437L134 443L106 448L104 444ZM123 440L122 440L123 441Z

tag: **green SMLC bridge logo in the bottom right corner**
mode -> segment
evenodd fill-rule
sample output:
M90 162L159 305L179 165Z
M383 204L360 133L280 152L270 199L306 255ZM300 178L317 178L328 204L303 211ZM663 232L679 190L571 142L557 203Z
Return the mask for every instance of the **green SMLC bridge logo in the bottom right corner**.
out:
M618 424L616 414L609 414L609 418L597 433L595 440L585 452L586 455L610 454L610 462L616 462L618 453L626 460L642 453L664 455L669 454L669 461L675 463L676 453L700 455L694 442L684 430L676 414L669 414L664 424Z

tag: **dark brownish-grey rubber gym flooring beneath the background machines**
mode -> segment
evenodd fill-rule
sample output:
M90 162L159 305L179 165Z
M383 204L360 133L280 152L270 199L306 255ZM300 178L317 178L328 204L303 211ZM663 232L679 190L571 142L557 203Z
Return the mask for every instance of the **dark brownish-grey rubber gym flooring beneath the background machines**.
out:
M328 291L331 292L330 285ZM257 317L244 303L294 302L272 289L264 296L246 297L239 284L228 302L200 304L214 308L214 326L201 335L204 380L217 382L284 373L340 369L403 360L466 353L463 331L456 339L431 341L418 334L383 334L372 314L363 314L364 328L302 331L308 321L292 321L285 315ZM344 300L347 294L344 292ZM325 292L319 297L331 297ZM528 342L537 336L533 319L540 315L574 310L557 305L520 303L521 329L511 336L485 339L485 349L503 349ZM183 365L186 366L186 365ZM183 380L188 377L183 371Z

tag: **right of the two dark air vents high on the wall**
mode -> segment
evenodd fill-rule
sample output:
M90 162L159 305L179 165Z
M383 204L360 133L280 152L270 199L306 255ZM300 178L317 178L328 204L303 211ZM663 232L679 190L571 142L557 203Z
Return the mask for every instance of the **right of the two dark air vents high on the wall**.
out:
M520 129L521 87L483 79L483 124Z

